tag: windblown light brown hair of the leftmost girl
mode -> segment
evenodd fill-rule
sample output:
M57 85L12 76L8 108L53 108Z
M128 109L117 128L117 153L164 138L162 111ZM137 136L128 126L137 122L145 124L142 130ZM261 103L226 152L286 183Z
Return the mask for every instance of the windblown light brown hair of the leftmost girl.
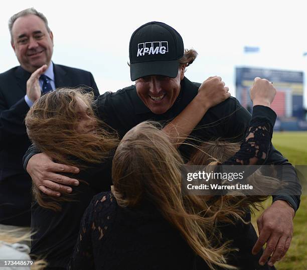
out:
M79 132L78 99L89 107L94 119L94 132ZM93 95L83 89L61 88L39 98L26 116L26 127L31 141L53 161L76 166L80 169L99 164L111 156L118 145L116 132L99 120L91 108ZM48 198L35 186L33 193L38 203L53 210L60 210L56 201L71 200L71 196Z

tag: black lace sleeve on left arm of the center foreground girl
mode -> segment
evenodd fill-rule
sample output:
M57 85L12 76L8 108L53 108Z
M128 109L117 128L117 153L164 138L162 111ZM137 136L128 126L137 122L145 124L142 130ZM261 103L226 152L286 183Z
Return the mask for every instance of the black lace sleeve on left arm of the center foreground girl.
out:
M102 244L108 229L114 198L111 192L97 194L85 210L68 269L95 269L93 246ZM94 241L94 242L93 242Z

